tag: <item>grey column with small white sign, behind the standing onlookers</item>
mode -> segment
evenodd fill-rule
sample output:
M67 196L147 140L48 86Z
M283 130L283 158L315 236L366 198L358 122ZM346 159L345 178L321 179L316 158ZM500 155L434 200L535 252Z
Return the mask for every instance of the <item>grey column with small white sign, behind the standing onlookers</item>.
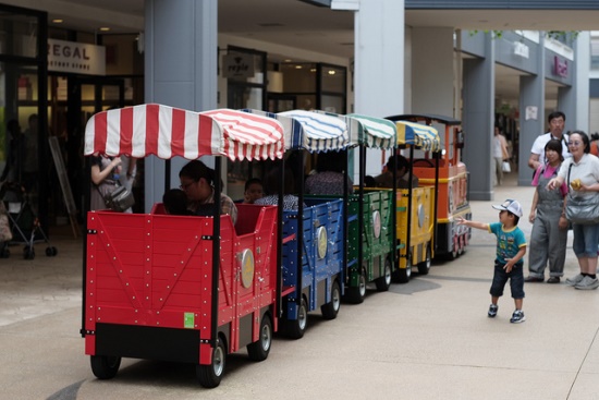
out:
M545 40L541 38L537 52L538 75L519 77L519 135L518 135L518 186L529 186L533 169L528 167L530 148L535 140L547 132L545 121ZM536 108L536 117L526 113L527 107ZM567 119L567 114L566 114ZM567 121L566 121L567 123Z

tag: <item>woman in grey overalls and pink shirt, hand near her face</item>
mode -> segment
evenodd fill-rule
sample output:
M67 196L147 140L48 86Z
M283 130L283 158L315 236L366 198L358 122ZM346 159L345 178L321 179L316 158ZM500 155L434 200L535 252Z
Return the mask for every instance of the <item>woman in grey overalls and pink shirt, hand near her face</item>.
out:
M536 186L530 215L533 223L528 252L528 277L525 282L542 282L545 268L549 263L549 279L547 283L559 283L564 272L565 247L567 241L567 220L563 215L564 197L567 186L550 190L549 181L558 175L564 158L562 143L551 140L545 145L545 165L540 166L533 178Z

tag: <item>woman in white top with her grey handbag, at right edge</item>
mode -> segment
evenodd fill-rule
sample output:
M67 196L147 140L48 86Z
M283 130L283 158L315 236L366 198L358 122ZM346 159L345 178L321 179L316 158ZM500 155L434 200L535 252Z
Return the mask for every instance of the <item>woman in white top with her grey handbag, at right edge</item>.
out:
M567 146L572 157L560 168L547 187L553 190L564 181L569 185L565 216L572 222L573 249L580 274L566 279L576 289L599 287L597 280L597 243L599 243L599 158L589 154L590 143L583 131L570 134Z

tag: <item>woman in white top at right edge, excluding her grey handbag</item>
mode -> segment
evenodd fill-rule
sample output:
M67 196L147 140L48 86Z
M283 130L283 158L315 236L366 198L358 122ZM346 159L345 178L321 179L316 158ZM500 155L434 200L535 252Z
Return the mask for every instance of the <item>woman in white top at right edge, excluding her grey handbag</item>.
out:
M572 157L567 158L560 168L558 177L551 179L548 189L553 190L566 181L570 196L591 198L599 192L599 158L589 154L590 144L586 133L573 131L570 134L567 146ZM579 180L579 185L572 182ZM565 202L567 207L567 197ZM599 287L597 280L597 243L599 243L598 223L573 223L574 254L578 258L580 274L566 279L566 283L576 289L590 290Z

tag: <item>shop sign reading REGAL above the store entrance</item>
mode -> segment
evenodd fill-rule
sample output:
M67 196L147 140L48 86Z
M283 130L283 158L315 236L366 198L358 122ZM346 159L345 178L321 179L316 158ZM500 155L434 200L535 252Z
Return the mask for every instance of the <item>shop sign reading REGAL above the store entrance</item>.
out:
M106 75L106 48L48 39L48 71Z

